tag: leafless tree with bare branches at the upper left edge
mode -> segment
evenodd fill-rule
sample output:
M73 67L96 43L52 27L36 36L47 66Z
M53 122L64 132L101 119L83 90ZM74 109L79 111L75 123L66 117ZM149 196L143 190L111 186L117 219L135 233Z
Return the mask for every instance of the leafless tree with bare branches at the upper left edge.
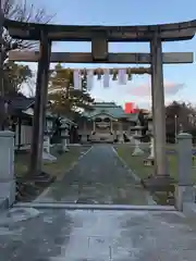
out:
M32 0L34 1L34 0ZM54 15L50 15L47 13L45 8L36 7L30 3L28 0L1 0L2 2L2 11L5 18L15 20L20 22L34 22L34 23L49 23L52 21ZM7 67L8 53L10 50L22 50L22 49L37 49L37 41L27 41L20 39L12 39L9 36L9 32L3 28L2 38L0 42L0 74L3 75L3 78L0 83L0 128L3 129L3 122L7 121L7 110L4 104L7 103L4 100L5 94L5 85L7 74L3 73ZM12 73L12 72L10 72ZM14 77L11 77L14 79ZM3 104L4 101L4 104Z

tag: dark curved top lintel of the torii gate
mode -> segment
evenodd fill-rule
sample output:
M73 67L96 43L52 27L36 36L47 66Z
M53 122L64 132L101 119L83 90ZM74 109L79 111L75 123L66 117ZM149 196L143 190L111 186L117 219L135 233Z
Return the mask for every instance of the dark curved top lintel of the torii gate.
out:
M196 20L182 23L137 26L89 26L23 23L4 20L4 27L13 38L39 40L45 32L53 41L91 41L105 38L107 41L149 41L158 33L162 41L188 40L196 30Z

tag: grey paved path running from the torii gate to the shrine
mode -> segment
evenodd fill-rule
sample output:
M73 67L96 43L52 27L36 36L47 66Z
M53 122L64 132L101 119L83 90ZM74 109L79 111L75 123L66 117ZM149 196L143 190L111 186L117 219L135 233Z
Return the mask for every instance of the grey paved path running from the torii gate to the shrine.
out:
M151 204L110 145L97 145L39 202Z

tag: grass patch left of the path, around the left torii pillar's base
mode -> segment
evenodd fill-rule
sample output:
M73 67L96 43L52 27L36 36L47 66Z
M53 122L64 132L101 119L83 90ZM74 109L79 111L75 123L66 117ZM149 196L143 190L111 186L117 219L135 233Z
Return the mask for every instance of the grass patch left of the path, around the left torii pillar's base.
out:
M16 176L16 200L30 201L50 186L58 176L63 176L71 165L78 160L82 152L88 148L71 147L69 152L58 153L57 148L51 149L51 154L57 158L54 162L42 161L42 172L47 173L47 181L32 181L27 174L29 152L15 153L14 167Z

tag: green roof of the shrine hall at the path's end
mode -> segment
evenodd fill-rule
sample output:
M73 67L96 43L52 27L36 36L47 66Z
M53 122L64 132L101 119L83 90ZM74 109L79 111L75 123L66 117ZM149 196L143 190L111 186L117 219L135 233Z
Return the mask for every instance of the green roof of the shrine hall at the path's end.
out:
M122 107L117 105L114 102L95 102L91 111L83 112L83 116L88 119L95 119L101 114L106 114L115 120L125 119L133 122L138 120L138 113L125 113Z

